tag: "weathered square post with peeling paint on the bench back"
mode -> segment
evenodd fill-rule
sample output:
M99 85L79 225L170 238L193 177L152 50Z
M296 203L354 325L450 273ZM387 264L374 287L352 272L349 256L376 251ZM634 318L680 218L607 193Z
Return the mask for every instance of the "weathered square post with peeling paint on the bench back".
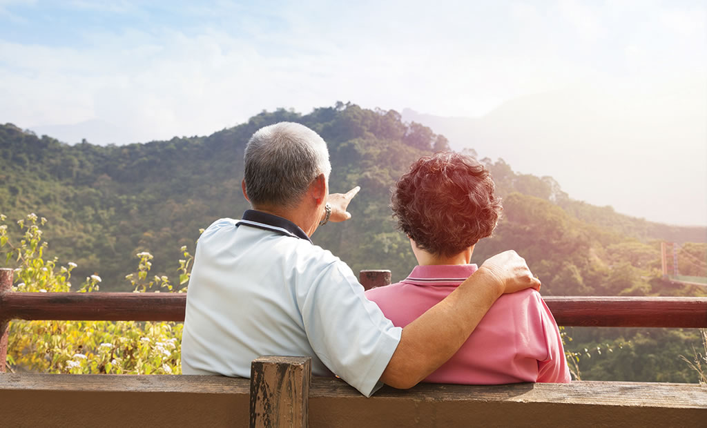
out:
M250 364L250 427L309 424L310 357L259 357Z

